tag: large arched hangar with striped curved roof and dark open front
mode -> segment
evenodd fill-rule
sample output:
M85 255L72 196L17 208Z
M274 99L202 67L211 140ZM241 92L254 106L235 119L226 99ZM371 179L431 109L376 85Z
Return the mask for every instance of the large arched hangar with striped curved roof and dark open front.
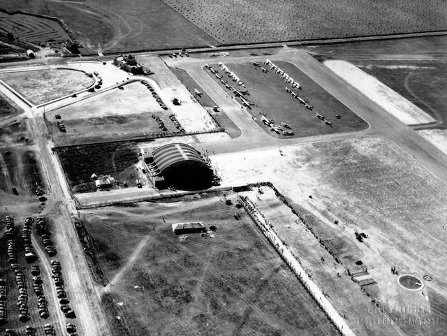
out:
M163 145L145 159L158 189L200 190L212 186L214 173L195 148L184 143Z

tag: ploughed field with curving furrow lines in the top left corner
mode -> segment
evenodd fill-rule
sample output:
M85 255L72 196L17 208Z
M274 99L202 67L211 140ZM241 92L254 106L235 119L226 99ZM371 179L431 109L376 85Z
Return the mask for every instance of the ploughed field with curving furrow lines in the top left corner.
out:
M0 32L13 33L16 38L38 45L48 41L66 41L68 34L57 20L35 15L0 10Z

